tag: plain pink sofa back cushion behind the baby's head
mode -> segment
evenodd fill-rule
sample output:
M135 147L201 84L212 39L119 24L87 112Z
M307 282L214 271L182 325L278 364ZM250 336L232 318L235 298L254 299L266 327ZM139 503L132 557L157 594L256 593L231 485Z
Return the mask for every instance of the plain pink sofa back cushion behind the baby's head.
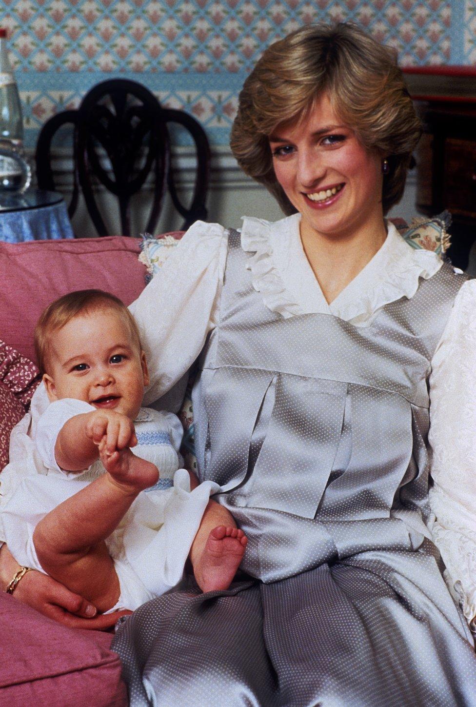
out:
M35 361L35 324L57 297L97 287L129 305L145 285L140 245L122 236L0 243L0 339Z

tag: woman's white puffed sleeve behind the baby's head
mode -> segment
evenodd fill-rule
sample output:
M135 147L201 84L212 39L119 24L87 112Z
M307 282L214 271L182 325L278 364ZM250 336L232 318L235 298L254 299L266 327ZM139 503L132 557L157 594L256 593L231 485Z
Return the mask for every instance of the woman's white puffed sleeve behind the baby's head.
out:
M196 221L130 305L148 361L144 404L189 370L215 327L227 257L226 230Z

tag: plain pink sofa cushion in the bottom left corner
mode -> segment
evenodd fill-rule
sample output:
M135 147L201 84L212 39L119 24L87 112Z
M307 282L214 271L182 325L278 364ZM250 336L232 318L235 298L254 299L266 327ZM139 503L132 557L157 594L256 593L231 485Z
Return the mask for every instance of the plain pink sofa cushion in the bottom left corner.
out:
M128 704L111 634L67 629L0 592L0 635L2 705Z

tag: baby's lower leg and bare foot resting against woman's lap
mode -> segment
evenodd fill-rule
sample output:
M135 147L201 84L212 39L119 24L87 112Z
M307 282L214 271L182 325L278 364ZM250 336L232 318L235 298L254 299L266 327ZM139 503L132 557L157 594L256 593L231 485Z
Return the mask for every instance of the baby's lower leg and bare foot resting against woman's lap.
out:
M210 501L190 551L194 575L203 592L228 589L243 559L247 542L231 513L219 503Z

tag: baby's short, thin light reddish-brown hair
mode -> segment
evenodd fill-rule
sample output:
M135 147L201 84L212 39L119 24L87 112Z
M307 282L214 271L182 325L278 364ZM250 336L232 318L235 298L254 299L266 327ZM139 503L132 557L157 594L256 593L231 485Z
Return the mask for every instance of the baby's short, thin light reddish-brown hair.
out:
M131 332L131 339L142 350L136 322L128 308L110 292L102 290L78 290L54 300L42 312L35 327L35 352L41 373L47 373L51 356L53 332L62 329L78 315L90 314L102 310L114 310L121 317Z

